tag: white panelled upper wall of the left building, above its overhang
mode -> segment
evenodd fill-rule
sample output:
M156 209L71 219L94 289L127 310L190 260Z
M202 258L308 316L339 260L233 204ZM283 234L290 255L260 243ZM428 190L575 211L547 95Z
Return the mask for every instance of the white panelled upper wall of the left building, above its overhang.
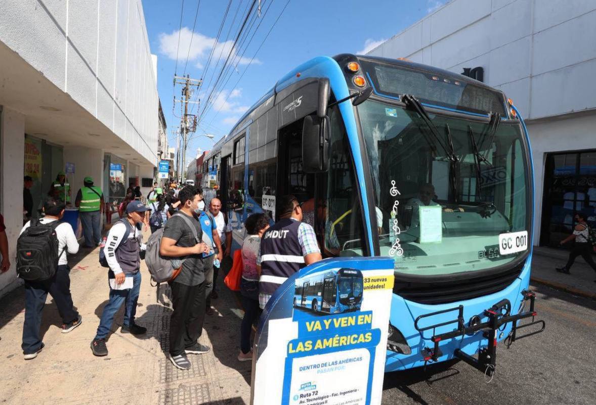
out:
M141 0L4 0L0 41L157 162L158 96Z

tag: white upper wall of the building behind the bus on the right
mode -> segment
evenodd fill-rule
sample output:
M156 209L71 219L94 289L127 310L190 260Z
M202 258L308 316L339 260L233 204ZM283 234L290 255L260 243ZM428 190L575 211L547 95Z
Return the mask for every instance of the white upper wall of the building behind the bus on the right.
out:
M595 38L593 0L453 0L369 54L482 66L531 120L596 108Z

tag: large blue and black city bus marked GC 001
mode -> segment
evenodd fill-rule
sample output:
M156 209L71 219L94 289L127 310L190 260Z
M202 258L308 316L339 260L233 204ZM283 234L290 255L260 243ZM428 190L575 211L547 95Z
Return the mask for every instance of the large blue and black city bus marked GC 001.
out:
M275 198L293 194L321 263L392 266L387 372L457 358L492 375L498 342L544 329L529 137L498 89L406 60L316 57L207 159L238 243L247 216L273 221Z

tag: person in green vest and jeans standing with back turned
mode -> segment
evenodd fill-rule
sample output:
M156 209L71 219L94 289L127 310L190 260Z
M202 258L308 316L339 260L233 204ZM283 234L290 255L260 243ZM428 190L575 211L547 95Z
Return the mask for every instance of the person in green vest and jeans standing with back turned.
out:
M79 208L80 223L85 235L85 247L94 248L101 242L101 211L104 194L93 185L92 177L83 179L83 186L76 194L75 205Z

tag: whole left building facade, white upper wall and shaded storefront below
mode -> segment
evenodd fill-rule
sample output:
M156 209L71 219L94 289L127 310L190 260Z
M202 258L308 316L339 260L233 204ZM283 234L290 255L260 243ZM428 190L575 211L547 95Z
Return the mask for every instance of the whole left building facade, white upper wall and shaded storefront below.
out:
M110 204L129 185L151 185L158 160L157 58L141 0L8 0L0 13L0 210L18 284L23 176L33 177L33 215L59 172L74 203L91 176ZM148 188L147 188L148 189ZM66 198L66 197L65 197Z

